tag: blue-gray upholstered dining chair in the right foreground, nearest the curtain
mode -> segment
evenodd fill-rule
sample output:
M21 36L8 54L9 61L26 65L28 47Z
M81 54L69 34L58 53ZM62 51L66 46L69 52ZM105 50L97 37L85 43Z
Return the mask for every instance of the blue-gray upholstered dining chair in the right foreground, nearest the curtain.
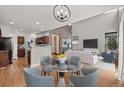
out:
M70 84L75 87L96 87L99 79L99 69L85 69L81 71L83 75L72 76Z

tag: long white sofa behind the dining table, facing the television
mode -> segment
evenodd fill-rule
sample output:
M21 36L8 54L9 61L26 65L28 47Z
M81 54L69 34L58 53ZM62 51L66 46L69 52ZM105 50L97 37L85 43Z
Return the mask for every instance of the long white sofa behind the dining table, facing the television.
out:
M65 55L67 57L78 56L81 63L96 64L98 62L97 55L94 55L88 51L67 50Z

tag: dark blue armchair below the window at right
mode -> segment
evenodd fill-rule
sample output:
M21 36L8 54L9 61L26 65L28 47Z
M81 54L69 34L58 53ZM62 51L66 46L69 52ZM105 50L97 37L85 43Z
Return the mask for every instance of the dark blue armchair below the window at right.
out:
M110 53L102 53L101 56L104 58L104 62L108 63L113 63L115 59L115 53L110 52Z

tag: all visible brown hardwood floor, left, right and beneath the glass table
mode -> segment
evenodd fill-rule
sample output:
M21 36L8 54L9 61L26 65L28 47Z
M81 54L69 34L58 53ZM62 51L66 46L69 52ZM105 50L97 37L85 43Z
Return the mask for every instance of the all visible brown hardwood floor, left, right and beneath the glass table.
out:
M6 68L0 69L0 87L25 87L23 68L27 66L26 58L19 58L13 64ZM51 75L56 77L56 73ZM66 86L69 84L70 74L65 74ZM57 86L57 79L55 79ZM120 81L115 79L114 72L100 69L100 78L98 80L99 87L123 87Z

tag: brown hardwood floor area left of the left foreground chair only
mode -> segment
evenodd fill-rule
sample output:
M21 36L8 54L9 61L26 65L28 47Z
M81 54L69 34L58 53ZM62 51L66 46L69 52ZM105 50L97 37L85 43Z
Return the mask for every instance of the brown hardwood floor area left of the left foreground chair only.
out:
M14 61L8 67L0 69L1 87L23 87L25 86L23 75L23 64Z

